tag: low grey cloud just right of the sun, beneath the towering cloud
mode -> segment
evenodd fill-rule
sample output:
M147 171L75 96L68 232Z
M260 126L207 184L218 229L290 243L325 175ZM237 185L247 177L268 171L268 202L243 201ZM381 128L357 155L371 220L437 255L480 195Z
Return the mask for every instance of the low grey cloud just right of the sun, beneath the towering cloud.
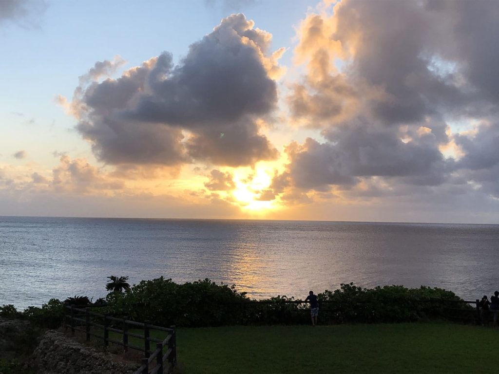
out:
M429 129L428 129L429 130ZM359 122L350 128L332 128L328 142L308 138L287 147L288 177L293 186L327 190L330 185L352 186L361 177L398 177L413 185L439 185L453 170L438 150L431 132L412 134L376 129Z

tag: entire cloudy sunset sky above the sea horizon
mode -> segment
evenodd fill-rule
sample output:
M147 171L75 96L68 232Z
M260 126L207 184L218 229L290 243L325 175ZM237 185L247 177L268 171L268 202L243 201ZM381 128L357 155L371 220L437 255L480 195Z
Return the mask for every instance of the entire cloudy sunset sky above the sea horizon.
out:
M497 19L0 0L0 215L499 223Z

